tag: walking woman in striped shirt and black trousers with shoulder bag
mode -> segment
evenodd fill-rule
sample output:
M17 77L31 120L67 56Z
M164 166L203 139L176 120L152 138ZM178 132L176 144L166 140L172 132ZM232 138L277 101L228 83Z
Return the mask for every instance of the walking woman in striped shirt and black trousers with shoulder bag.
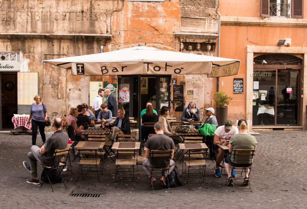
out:
M35 103L31 104L30 117L27 123L30 123L32 118L32 145L36 145L36 135L37 135L37 126L39 128L39 133L41 134L41 139L45 144L46 136L45 136L45 125L48 121L48 111L46 108L46 104L41 102L41 96L34 96Z

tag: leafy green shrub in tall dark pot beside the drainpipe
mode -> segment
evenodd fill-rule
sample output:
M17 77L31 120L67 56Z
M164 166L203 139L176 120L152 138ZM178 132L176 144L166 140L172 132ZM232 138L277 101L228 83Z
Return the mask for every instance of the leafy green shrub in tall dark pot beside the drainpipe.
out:
M227 112L229 102L232 100L232 97L228 96L224 91L218 91L213 97L214 102L216 103L216 120L219 126L223 126L225 120L227 119Z

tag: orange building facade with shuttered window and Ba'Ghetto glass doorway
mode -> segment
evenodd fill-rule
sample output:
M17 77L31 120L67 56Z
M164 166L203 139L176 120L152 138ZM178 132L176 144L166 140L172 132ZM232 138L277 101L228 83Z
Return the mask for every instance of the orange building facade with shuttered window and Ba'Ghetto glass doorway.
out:
M243 94L232 94L233 77L220 78L220 91L234 98L228 116L247 118L254 128L306 129L307 2L225 0L219 6L220 56L241 60L233 77L244 81ZM287 40L278 45L280 39Z

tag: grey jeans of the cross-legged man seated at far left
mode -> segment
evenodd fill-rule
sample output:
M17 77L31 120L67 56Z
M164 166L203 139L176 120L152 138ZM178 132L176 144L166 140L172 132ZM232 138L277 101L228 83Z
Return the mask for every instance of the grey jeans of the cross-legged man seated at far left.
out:
M28 158L31 165L31 176L33 178L37 178L37 161L42 165L46 165L44 162L44 156L40 152L40 148L36 145L33 145L30 148L30 152L28 153Z

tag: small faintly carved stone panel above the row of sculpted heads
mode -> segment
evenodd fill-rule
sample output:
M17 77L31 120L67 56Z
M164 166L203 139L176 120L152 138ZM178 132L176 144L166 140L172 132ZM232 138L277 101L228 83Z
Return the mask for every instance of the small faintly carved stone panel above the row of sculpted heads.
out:
M213 17L215 0L180 0L181 17Z

